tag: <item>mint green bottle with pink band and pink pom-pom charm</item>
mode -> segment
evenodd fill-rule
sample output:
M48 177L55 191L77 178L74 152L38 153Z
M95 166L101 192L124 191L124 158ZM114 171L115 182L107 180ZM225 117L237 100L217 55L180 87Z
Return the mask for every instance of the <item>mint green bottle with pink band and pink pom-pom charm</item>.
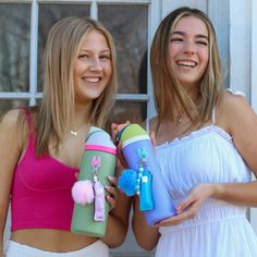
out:
M72 188L74 209L71 231L77 234L102 237L109 213L105 185L114 175L117 148L110 135L90 127L85 140L78 180Z

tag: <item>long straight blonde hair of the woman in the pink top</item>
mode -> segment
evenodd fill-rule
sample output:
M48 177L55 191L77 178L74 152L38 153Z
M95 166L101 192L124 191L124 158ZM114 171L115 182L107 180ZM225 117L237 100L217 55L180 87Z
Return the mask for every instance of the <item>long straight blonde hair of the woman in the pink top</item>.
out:
M94 100L90 124L103 127L117 93L115 50L112 36L97 21L88 17L65 17L50 29L45 49L44 97L35 119L37 130L37 156L49 154L49 143L58 149L69 128L74 111L74 63L84 36L90 30L100 32L110 48L112 75L103 93Z

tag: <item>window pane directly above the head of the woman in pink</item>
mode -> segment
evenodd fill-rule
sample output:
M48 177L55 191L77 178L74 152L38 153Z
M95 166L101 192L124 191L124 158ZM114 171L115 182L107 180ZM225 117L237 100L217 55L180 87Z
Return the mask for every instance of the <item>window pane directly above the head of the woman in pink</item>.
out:
M42 54L51 26L66 16L89 16L88 4L39 4L38 20L38 91L42 90Z

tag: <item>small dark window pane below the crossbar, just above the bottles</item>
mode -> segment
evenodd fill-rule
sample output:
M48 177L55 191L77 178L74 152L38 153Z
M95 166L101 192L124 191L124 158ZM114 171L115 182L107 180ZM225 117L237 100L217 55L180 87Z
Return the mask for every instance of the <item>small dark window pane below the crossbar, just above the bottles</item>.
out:
M146 119L146 102L117 101L110 118L111 122L142 123Z

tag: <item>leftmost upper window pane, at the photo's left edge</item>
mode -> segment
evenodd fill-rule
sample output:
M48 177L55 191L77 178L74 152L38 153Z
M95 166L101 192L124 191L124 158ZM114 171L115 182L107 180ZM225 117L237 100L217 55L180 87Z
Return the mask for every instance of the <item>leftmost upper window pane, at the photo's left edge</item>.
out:
M0 4L0 91L27 91L29 4Z

